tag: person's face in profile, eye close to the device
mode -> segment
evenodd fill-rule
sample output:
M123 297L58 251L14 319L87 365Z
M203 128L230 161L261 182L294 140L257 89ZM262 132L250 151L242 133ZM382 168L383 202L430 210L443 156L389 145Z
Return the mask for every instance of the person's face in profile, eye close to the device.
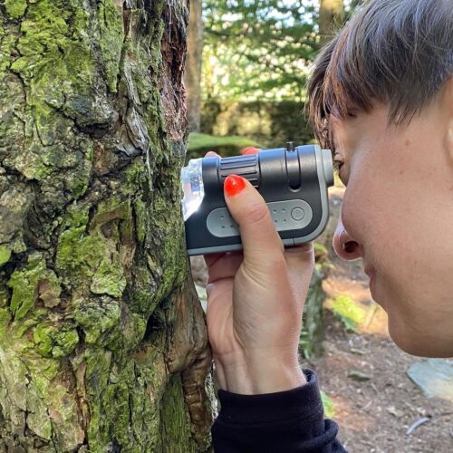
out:
M347 186L333 246L363 259L401 349L453 356L453 81L409 125L388 114L333 120Z

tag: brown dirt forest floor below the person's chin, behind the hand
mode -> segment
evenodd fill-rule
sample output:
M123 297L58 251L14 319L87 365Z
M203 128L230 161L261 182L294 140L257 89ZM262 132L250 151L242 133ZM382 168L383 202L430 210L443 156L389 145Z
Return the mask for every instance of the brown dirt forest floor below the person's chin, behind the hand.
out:
M332 218L322 240L330 242L341 206L343 189L331 191ZM315 370L322 390L333 400L340 439L351 453L453 453L453 404L426 398L406 371L421 359L401 352L390 340L386 313L372 302L368 277L361 262L342 262L330 254L334 268L323 282L328 297L349 295L367 313L357 333L347 333L342 322L326 311L326 339L322 358L305 362ZM192 258L197 284L206 283L200 257ZM363 381L348 377L359 372ZM361 374L362 373L362 374ZM410 435L408 429L428 419Z

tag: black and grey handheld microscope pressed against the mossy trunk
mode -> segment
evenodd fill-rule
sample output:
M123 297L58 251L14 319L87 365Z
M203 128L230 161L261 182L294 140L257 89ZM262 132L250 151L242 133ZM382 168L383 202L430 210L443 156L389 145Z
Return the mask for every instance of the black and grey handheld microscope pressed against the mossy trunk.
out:
M255 155L190 160L181 173L188 255L242 249L223 192L232 174L248 179L265 198L284 246L304 244L323 232L329 218L327 188L333 186L332 153L290 142Z

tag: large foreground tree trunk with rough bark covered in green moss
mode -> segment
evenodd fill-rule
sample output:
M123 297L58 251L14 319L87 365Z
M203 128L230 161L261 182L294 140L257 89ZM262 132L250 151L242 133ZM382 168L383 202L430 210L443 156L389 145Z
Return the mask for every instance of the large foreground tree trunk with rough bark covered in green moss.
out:
M0 4L0 451L203 451L187 0Z

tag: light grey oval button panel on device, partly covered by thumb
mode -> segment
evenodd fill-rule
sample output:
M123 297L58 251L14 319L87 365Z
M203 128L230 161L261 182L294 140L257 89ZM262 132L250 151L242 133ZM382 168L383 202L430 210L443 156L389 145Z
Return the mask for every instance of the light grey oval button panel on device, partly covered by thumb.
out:
M302 199L267 203L277 231L302 229L313 218L313 210ZM213 236L239 236L239 227L226 207L214 209L207 216L207 229Z

